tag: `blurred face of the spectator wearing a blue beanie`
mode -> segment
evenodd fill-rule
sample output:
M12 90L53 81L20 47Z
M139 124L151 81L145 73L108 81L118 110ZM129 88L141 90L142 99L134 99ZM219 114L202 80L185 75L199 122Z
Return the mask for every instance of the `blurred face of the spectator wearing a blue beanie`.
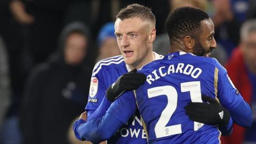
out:
M120 55L116 38L108 37L100 45L100 59L106 59Z

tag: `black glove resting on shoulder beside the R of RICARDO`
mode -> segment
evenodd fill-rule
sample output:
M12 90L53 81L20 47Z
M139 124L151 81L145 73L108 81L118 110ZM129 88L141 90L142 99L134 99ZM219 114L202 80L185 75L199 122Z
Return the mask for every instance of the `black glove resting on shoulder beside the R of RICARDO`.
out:
M146 76L137 73L137 69L133 69L127 74L120 76L115 83L110 85L106 92L106 97L109 101L113 102L124 91L136 90L140 85L146 81Z

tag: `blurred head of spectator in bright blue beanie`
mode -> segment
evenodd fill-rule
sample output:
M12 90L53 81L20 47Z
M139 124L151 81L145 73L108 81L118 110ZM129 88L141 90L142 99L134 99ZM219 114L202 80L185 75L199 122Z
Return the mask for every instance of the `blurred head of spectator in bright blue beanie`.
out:
M98 44L97 61L121 54L116 42L114 22L109 22L100 29Z

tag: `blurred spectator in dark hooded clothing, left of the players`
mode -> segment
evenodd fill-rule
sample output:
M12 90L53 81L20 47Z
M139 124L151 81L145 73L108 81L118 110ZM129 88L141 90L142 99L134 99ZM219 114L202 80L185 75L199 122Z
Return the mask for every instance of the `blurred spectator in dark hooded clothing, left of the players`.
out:
M60 49L28 78L21 110L25 144L66 144L69 125L87 102L90 34L81 23L62 31ZM53 130L52 127L55 127Z

